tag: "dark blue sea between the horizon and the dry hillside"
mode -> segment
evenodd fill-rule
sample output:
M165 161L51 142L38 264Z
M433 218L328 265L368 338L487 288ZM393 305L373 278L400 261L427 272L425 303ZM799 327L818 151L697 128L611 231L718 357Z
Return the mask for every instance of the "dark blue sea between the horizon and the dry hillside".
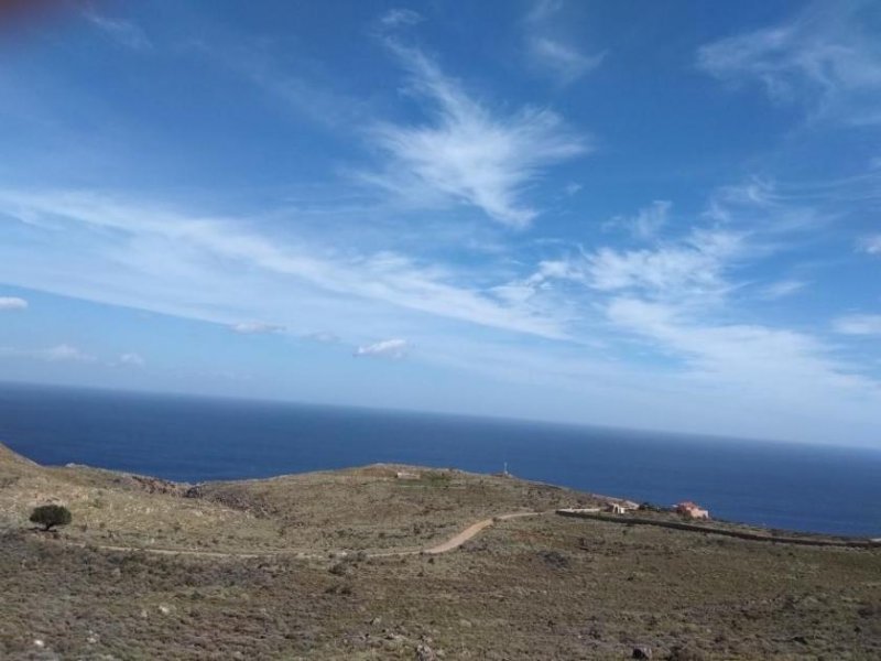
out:
M41 464L168 479L393 462L518 476L722 519L881 535L881 451L0 384L0 442Z

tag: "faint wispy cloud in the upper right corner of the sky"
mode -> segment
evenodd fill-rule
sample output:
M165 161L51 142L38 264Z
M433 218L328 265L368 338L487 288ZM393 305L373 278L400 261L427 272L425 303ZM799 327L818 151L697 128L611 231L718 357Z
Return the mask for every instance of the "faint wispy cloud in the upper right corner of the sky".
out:
M877 9L871 2L813 2L782 25L703 46L698 66L722 80L759 83L772 100L804 104L817 117L881 122Z

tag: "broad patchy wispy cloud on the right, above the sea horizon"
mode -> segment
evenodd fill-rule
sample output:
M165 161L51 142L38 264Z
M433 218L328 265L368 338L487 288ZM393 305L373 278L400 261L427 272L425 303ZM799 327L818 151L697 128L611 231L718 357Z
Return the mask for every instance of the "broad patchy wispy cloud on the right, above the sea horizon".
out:
M561 283L572 285L566 297L590 311L579 319L577 337L599 336L603 353L611 355L630 346L624 350L635 373L641 367L632 346L641 346L665 366L645 372L664 391L689 393L695 401L711 391L714 398L738 401L741 415L765 411L773 401L775 410L790 414L811 410L820 418L870 425L864 404L881 405L881 382L864 364L840 358L840 346L819 334L785 322L757 322L754 310L747 307L754 295L737 295L747 290L780 299L805 286L794 279L757 284L752 269L771 256L797 250L793 239L823 217L804 206L816 195L826 192L786 194L759 183L728 186L709 196L707 209L692 218L679 238L667 232L640 239L648 247L575 247L541 261L532 275L497 288L498 293L533 301L559 295ZM737 321L744 316L751 321ZM859 322L851 323L851 330L872 328L867 319ZM808 387L802 386L805 381Z

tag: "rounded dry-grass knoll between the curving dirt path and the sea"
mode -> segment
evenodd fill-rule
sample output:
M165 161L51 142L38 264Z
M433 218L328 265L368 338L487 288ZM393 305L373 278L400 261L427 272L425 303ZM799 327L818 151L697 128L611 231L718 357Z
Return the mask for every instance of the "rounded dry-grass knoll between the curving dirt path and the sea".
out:
M403 469L420 479L396 479ZM548 485L387 465L215 483L199 491L206 500L272 520L293 546L355 551L431 546L479 519L592 501Z

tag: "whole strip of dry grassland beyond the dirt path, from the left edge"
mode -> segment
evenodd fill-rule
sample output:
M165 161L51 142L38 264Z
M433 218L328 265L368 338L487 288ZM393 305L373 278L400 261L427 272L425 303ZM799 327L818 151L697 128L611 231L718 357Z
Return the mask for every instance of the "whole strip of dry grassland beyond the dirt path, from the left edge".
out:
M2 448L2 446L0 446ZM553 509L586 495L458 470L368 466L189 489L85 466L44 468L0 455L0 525L26 525L37 505L74 514L79 543L227 553L383 551L439 543L477 519ZM185 495L197 494L192 498Z

